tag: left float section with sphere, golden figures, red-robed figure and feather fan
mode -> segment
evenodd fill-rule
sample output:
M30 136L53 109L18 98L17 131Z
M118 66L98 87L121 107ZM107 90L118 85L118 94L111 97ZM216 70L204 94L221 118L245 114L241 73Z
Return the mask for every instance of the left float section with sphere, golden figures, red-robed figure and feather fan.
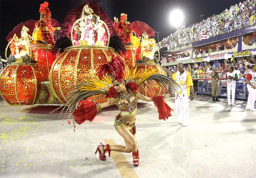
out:
M55 43L53 27L59 22L51 19L45 1L40 5L40 20L27 20L14 27L8 34L10 57L0 75L0 93L10 105L60 105L53 95L48 80L56 56L52 52Z

